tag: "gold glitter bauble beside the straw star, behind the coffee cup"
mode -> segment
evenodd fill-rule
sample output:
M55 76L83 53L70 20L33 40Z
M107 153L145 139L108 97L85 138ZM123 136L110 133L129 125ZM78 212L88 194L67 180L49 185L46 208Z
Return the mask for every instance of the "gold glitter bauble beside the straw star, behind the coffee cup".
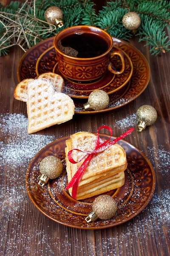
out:
M51 6L45 11L45 20L50 24L55 24L61 28L62 23L62 10L57 6Z

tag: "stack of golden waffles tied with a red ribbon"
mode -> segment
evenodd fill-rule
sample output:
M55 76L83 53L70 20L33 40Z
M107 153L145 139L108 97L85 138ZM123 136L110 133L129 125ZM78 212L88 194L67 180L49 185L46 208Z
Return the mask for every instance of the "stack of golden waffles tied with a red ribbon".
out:
M66 141L66 169L68 175L68 183L77 172L83 161L72 164L68 160L68 151L77 148L82 151L92 151L95 146L96 135L89 132L78 132L71 135ZM75 161L79 161L85 153L80 151L72 151L72 156ZM127 168L127 160L125 150L119 145L114 144L105 151L97 153L85 170L82 179L80 180L77 190L77 200L90 198L94 195L99 195L108 192L112 189L117 189L124 185L125 174ZM69 189L71 195L72 188Z

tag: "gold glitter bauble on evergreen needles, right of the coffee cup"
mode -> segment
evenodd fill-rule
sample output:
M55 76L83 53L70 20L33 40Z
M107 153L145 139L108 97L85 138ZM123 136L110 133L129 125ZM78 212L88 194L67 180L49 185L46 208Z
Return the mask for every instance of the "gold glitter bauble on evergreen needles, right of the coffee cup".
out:
M127 12L123 16L122 23L126 29L135 31L140 26L141 18L136 12Z

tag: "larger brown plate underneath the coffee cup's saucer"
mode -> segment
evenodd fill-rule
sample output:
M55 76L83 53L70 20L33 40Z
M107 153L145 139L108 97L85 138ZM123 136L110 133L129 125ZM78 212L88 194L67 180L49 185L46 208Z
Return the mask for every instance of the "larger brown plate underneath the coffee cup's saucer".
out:
M35 78L36 62L42 52L53 47L53 39L48 38L31 47L21 58L17 68L18 81L26 78ZM144 55L135 47L118 38L113 38L113 44L122 49L131 59L133 64L133 74L130 83L123 88L109 95L110 102L106 109L100 111L83 111L83 104L87 102L85 99L74 99L75 113L92 114L110 111L120 108L127 103L136 99L147 87L150 80L150 67ZM54 61L54 63L56 63ZM53 64L53 63L52 63ZM51 63L49 63L51 65ZM46 68L46 65L45 65ZM46 71L44 71L46 72ZM113 81L114 83L114 81ZM106 89L106 88L105 88Z

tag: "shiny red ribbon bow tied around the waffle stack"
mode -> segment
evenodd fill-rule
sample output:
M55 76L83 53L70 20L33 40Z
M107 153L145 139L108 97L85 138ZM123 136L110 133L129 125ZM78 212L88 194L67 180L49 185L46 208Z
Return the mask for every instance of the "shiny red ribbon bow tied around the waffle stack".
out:
M99 131L102 128L107 129L108 131L110 131L110 134L111 134L110 137L108 138L108 140L105 140L104 142L99 137ZM103 125L97 131L96 141L95 141L95 146L94 146L93 151L82 151L82 150L79 150L77 148L74 148L74 149L71 149L70 151L68 151L68 160L71 163L79 163L86 157L86 159L84 160L82 165L79 167L79 169L77 170L77 172L75 173L75 175L72 177L71 181L68 183L68 185L65 188L65 189L70 189L71 187L73 187L73 189L72 189L72 198L74 198L74 199L77 198L77 189L78 189L79 182L82 178L82 175L85 172L85 169L88 166L88 163L91 161L91 159L97 153L104 151L105 149L109 148L111 145L115 144L117 141L122 140L124 137L126 137L128 134L130 134L132 131L134 131L134 129L130 128L124 134L117 137L115 140L112 140L112 141L109 142L109 140L112 136L112 129L110 127L106 126L106 125ZM86 154L78 162L76 162L76 161L74 161L74 159L72 157L72 151L74 151L74 150L77 150L77 151L80 151L80 152L83 152L83 153L86 153Z

